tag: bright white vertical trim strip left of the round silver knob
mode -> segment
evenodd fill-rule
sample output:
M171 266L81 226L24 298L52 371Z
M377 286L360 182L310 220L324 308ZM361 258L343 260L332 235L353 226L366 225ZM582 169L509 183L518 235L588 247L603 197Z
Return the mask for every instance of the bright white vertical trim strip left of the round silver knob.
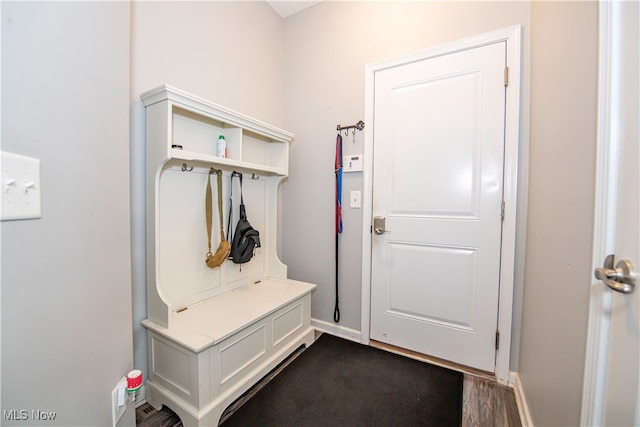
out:
M622 5L599 2L598 133L592 271L615 250L617 163L620 135ZM591 277L589 325L582 390L581 425L601 425L609 342L611 293Z

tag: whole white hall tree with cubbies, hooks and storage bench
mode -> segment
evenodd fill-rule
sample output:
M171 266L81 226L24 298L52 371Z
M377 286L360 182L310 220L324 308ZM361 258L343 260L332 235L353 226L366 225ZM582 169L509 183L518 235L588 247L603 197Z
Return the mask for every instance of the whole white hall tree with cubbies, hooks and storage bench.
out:
M185 425L217 425L226 407L301 345L313 341L315 285L287 279L276 254L277 191L293 134L171 86L141 95L147 114L147 401ZM223 135L226 157L218 157ZM248 219L261 247L245 264L205 264L205 192L243 174ZM238 219L234 179L232 231ZM216 176L212 251L220 243Z

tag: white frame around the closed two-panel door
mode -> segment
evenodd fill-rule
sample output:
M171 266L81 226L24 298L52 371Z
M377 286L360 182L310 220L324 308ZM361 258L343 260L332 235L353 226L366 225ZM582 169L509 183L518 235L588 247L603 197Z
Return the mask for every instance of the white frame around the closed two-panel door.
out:
M365 123L374 122L374 83L375 74L389 68L415 61L447 55L461 50L468 50L492 43L506 41L507 66L509 67L509 85L506 91L505 109L505 151L504 151L504 201L505 214L502 223L502 249L500 265L500 294L498 298L498 330L500 331L500 348L496 351L495 375L501 384L509 383L509 362L511 356L511 327L513 316L513 295L516 265L522 265L524 259L524 234L526 203L518 207L518 193L526 193L526 168L519 168L519 159L526 152L520 147L520 99L521 99L521 43L522 26L515 25L492 31L467 39L447 43L421 50L409 55L367 64L365 66ZM523 137L524 139L524 137ZM364 135L364 191L362 221L362 302L361 302L361 342L369 344L371 319L371 222L373 215L373 132ZM522 200L526 200L526 194ZM519 222L518 222L519 220ZM521 274L521 272L519 272Z

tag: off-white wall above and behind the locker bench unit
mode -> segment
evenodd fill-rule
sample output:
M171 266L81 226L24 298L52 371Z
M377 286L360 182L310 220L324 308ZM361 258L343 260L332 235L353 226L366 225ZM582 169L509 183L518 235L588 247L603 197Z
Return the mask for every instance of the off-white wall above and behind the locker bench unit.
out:
M282 126L283 23L264 1L135 2L131 215L135 365L147 372L145 117L140 94L170 84Z

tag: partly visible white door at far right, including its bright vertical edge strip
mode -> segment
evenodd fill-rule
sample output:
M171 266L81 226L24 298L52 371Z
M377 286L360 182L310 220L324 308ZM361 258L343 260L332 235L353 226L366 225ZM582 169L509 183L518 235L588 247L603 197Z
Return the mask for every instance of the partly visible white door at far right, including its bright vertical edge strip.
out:
M583 425L640 426L639 23L638 2L600 3L594 270L614 255L607 267L630 262L635 285L591 284Z

